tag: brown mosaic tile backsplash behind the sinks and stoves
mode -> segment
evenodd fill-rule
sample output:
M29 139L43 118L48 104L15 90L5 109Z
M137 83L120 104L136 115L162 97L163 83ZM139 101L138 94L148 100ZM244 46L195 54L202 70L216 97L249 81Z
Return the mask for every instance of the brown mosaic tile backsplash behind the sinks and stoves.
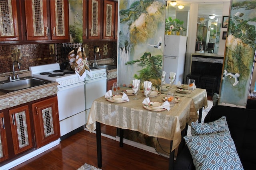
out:
M96 55L96 59L108 59L117 56L117 42L88 42L83 44L87 60L94 60L94 46L100 47L100 55ZM52 47L52 52L50 51ZM66 52L66 53L64 53ZM64 64L68 69L68 50L64 51L62 43L58 44L27 44L27 45L1 45L0 46L0 73L12 72L12 63L17 60L20 65L20 70L27 71L30 66L42 64L60 63ZM18 71L18 66L15 65L15 71Z

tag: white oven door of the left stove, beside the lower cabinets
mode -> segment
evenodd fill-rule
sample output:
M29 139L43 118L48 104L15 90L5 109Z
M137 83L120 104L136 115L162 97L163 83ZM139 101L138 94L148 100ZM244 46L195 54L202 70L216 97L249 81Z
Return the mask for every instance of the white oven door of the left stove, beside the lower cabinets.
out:
M60 121L85 111L84 82L58 88L57 97Z

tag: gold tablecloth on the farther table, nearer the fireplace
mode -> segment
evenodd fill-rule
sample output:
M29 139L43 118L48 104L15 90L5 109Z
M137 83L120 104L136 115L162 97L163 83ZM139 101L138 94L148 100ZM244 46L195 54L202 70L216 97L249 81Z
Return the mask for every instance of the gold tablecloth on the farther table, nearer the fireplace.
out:
M166 86L170 86L170 84L166 84ZM176 92L179 88L176 85L172 85L172 88L167 91L161 91L162 94L167 94L168 91L175 92L176 96L182 96L187 98L192 98L196 110L201 109L202 107L207 108L207 92L205 89L196 88L196 90L192 91L191 93L180 93Z

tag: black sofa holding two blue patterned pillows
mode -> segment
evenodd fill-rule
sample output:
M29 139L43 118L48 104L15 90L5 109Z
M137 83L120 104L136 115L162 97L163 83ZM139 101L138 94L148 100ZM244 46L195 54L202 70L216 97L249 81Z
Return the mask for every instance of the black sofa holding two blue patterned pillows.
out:
M254 141L256 139L256 109L213 106L204 118L204 123L215 121L222 116L226 116L228 128L244 170L254 170L256 168L256 141ZM173 169L195 169L187 146L178 154Z

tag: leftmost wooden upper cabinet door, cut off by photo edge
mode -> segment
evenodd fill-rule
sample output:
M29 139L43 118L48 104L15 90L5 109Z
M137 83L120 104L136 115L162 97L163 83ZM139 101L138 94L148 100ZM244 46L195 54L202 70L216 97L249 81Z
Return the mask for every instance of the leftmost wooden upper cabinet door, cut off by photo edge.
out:
M1 0L0 15L1 41L19 41L16 1Z

